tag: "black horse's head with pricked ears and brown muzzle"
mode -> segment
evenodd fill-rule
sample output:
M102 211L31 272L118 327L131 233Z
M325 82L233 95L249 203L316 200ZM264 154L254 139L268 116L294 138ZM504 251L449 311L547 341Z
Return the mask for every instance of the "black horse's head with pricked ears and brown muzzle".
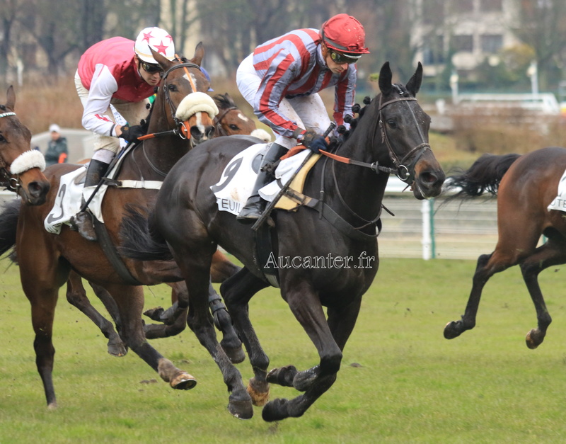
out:
M381 95L372 103L379 127L374 137L386 144L396 173L411 186L415 198L434 198L440 194L446 176L430 148L430 117L416 98L422 82L422 64L419 62L406 86L393 84L391 79L391 68L386 62L379 73Z

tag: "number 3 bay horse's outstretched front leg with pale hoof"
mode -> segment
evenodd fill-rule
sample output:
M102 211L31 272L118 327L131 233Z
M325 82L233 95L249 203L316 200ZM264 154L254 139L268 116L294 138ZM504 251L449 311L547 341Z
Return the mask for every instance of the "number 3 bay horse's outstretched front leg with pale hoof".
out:
M116 301L122 319L122 340L153 368L173 389L188 390L195 387L197 380L180 370L152 347L144 335L141 312L144 309L144 291L141 287L129 285L105 285L106 290Z

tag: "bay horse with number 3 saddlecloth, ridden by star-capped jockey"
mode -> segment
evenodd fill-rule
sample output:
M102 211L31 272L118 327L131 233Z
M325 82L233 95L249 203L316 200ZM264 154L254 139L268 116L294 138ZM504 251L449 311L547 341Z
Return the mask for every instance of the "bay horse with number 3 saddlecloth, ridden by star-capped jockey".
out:
M130 180L150 184L162 181L171 166L190 149L191 144L187 142L187 137L209 137L213 132L212 117L208 113L194 113L186 122L185 118L177 114L186 98L196 94L206 96L204 91L209 88L209 81L200 70L204 57L202 43L197 45L193 58L186 62L184 59L183 62L170 62L155 52L153 54L164 72L148 123L149 134L158 137L145 140L137 145L131 154L125 156L117 177L120 182ZM206 98L212 102L209 96ZM193 121L195 123L192 123ZM46 171L51 190L47 193L45 205L21 205L16 218L8 217L10 211L0 215L0 227L15 233L16 260L20 268L23 291L31 304L36 364L45 389L47 406L57 406L52 381L54 309L58 289L69 280L71 270L89 282L102 286L112 295L120 314L120 336L129 348L174 389L194 387L194 377L176 368L170 360L147 343L141 321L144 305L141 285L182 280L176 264L173 261L150 263L122 258L125 272L120 273L115 264L110 262L100 243L83 239L67 225L62 227L58 235L45 230L43 221L54 205L59 179L77 168L81 166L51 166ZM106 191L102 213L108 236L114 244L117 245L120 241L118 231L126 204L133 202L147 210L153 205L155 197L155 188L110 187ZM11 246L13 242L10 239L0 239L1 252L7 251ZM72 286L76 282L69 280L67 283Z

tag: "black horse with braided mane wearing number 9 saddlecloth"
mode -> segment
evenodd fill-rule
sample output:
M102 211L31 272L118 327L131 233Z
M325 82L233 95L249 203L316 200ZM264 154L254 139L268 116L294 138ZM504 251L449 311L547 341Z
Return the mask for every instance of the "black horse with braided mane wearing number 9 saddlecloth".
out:
M445 176L430 149L430 118L416 99L422 65L419 63L406 86L391 80L386 63L379 75L381 93L364 108L357 126L335 152L347 163L327 158L311 169L304 194L320 198L320 213L311 207L272 213L274 258L298 258L302 263L322 260L319 267L278 269L282 297L318 351L320 361L312 368L299 371L289 365L267 372L270 360L248 317L250 298L270 285L255 258L255 231L238 223L235 215L219 211L211 190L233 156L255 140L231 136L204 142L173 166L149 219L132 217L131 224L122 225L128 255L165 259L172 254L180 266L189 292L187 323L222 372L231 392L228 409L233 416L250 418L255 404L265 405L265 421L298 417L333 385L362 295L379 265L376 224L389 173L398 173L417 199L441 192ZM244 265L221 284L221 295L253 368L255 376L248 389L219 347L209 320L208 275L217 244ZM323 307L327 307L328 319ZM270 382L304 393L267 402Z

